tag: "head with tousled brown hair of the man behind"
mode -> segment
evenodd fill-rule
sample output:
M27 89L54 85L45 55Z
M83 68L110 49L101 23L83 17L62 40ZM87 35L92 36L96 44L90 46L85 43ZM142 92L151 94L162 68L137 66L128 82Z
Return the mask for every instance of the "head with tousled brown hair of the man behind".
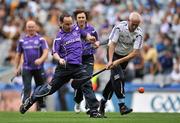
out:
M74 11L74 17L79 26L84 26L88 20L88 12L83 9Z

